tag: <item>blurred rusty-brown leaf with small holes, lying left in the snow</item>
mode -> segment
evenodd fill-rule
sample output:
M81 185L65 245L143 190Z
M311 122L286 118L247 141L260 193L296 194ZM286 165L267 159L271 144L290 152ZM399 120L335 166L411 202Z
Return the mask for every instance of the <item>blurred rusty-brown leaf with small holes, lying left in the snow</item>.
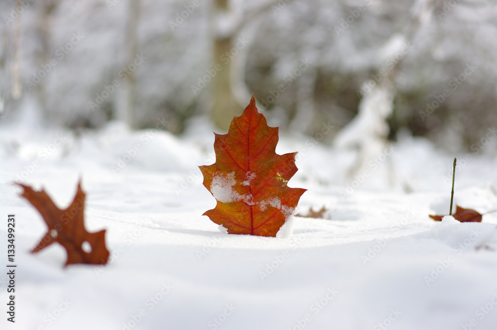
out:
M40 212L48 226L48 233L31 251L32 253L57 242L67 251L65 266L72 263L107 263L109 251L105 247L105 230L98 233L88 233L84 228L85 194L81 189L81 180L78 183L78 191L73 202L65 210L59 209L44 189L34 191L29 186L17 184L24 188L20 196L26 198ZM83 249L84 242L89 244L91 251Z

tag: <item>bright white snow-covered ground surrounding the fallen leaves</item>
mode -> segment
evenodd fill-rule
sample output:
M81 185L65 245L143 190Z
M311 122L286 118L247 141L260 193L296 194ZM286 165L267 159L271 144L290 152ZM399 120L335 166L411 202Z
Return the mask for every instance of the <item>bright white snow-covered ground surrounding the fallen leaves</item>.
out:
M350 178L353 151L280 134L279 154L300 152L290 181L308 189L300 212L325 205L327 219L296 217L289 239L228 235L202 216L215 206L197 167L214 162L205 122L180 138L119 123L79 136L0 126L1 329L496 329L497 214L483 223L428 217L448 211L454 155L404 134L364 163L367 176ZM482 213L497 209L489 132L457 155L455 202ZM107 230L106 266L63 268L58 245L28 252L46 227L12 182L45 187L67 207L80 177L86 227ZM15 324L4 266L11 213Z

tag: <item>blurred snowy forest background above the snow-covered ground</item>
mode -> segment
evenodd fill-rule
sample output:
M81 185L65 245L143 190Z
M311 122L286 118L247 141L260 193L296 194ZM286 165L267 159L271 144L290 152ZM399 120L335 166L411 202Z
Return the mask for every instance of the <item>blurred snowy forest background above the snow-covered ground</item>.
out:
M0 111L46 125L271 126L469 149L497 126L495 0L2 0ZM431 107L431 108L430 108ZM347 127L348 129L343 129ZM341 131L341 132L340 132Z

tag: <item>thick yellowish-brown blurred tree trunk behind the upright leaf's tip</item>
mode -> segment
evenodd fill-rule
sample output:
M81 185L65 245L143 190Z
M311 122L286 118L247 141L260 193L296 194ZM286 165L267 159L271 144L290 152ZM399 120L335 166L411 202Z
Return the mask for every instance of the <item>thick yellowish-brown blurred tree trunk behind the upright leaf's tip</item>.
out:
M215 0L214 3L215 20L222 19L229 15L229 0ZM223 17L224 16L224 17ZM221 56L229 53L233 47L233 32L228 35L220 31L219 22L214 22L214 64L221 64L222 70L217 72L212 79L212 95L214 102L210 110L213 122L222 130L227 131L234 116L240 115L243 107L238 103L233 93L231 84L231 61L227 64L221 62Z

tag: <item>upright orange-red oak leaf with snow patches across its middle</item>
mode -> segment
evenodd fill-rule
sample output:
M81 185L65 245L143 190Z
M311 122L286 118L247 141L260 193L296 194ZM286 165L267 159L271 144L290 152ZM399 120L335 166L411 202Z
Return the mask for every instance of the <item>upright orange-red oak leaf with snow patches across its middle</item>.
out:
M217 200L204 215L230 234L276 237L306 191L287 186L297 171L297 153L276 154L278 128L267 126L253 94L228 134L215 136L216 163L199 166Z

